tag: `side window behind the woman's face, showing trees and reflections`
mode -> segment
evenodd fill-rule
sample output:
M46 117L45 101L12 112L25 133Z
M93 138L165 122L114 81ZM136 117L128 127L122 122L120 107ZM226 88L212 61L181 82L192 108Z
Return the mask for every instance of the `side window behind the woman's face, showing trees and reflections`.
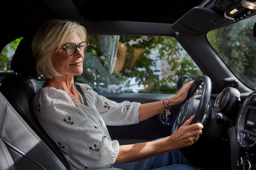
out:
M176 93L179 77L202 74L173 37L89 35L88 42L75 81L98 92Z

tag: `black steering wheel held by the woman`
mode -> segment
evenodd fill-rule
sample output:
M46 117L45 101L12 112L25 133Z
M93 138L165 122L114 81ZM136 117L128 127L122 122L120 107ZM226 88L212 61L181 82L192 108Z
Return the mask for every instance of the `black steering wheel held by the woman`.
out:
M202 83L203 91L200 100L189 100ZM208 123L209 118L211 118L211 109L208 105L211 97L211 91L212 83L211 79L207 75L200 75L194 80L186 99L180 104L179 113L173 122L171 134L175 133L177 129L180 128L181 125L183 125L184 122L192 115L194 116L194 119L191 124L202 123L203 125L206 125L206 123Z

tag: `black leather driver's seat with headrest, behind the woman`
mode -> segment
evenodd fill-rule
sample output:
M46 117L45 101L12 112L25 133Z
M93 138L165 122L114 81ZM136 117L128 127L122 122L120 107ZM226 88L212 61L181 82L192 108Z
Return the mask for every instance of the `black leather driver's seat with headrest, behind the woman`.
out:
M42 87L39 82L32 78L37 76L37 72L32 57L31 42L31 38L24 37L19 43L11 64L16 74L5 77L0 86L0 92L6 97L23 120L26 121L28 126L39 136L40 140L51 148L50 150L54 153L53 155L64 165L62 169L71 170L66 158L41 127L31 109L32 99L36 92ZM30 139L28 139L27 142L30 143ZM38 154L38 156L41 155L40 151L34 153L35 155ZM44 157L41 158L44 159Z

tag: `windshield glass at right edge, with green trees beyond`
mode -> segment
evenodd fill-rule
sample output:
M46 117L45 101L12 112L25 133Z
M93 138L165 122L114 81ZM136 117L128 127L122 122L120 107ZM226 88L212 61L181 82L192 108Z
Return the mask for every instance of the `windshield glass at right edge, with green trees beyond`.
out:
M234 75L247 87L256 89L256 15L207 33L207 39Z

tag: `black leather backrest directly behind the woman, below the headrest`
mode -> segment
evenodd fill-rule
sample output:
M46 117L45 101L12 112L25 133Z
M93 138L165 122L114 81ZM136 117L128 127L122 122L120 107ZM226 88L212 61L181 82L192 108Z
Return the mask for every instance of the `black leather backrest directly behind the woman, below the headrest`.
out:
M70 170L66 158L59 148L44 131L43 127L37 120L31 108L31 102L36 92L41 88L41 84L35 79L23 75L9 75L5 77L0 86L0 92L6 97L9 103L14 107L18 114L26 121L31 129L43 140L55 155L63 162L66 169Z

